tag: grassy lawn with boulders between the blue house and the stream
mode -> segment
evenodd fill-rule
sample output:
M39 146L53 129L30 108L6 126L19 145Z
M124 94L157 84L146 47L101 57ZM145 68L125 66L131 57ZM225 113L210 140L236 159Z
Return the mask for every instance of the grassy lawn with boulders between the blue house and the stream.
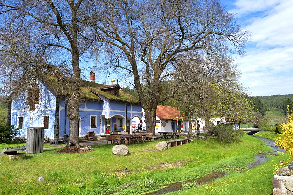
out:
M190 144L173 147L166 151L149 151L159 141L128 146L131 154L115 156L113 145L93 146L95 151L77 154L60 154L56 149L46 149L43 153L27 154L23 160L9 161L0 158L0 194L142 194L160 189L159 185L191 180L216 172L232 173L233 177L258 178L258 185L267 184L272 179L272 168L258 168L270 177L259 172L245 171L246 163L254 161L259 152L271 151L259 139L243 135L231 144L222 144L214 139L195 140ZM269 162L274 164L286 157L275 156ZM231 168L226 168L228 166ZM235 168L237 167L237 168ZM231 177L232 175L225 176ZM45 182L38 184L37 177ZM222 181L223 179L215 180ZM244 180L245 181L245 180ZM214 185L214 184L213 184ZM206 187L206 185L205 185ZM241 186L238 191L241 191ZM237 188L225 188L225 194ZM270 186L265 189L270 189ZM193 192L207 193L204 186ZM229 192L228 192L229 191ZM193 194L192 191L186 193ZM263 194L263 191L258 191ZM267 191L271 194L272 191ZM180 192L184 194L185 192ZM240 193L241 194L241 193Z

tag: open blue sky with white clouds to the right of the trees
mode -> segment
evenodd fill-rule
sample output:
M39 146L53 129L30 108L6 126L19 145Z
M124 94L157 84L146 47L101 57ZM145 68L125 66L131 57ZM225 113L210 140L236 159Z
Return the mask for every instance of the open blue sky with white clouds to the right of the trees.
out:
M252 33L246 55L234 56L250 95L293 94L293 0L222 2Z

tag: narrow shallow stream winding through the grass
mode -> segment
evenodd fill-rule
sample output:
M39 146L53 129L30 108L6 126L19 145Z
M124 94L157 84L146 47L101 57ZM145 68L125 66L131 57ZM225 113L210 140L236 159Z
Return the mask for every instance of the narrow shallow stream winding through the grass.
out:
M271 139L267 139L264 137L257 137L256 138L262 140L265 142L265 145L267 146L271 146L273 148L273 150L271 152L285 152L284 149L280 149L275 145L275 141L271 140ZM268 161L269 158L265 158L266 153L261 153L261 154L257 154L254 157L254 162L253 163L248 163L246 164L249 168L253 168L257 165L261 165L262 163L264 163L265 161ZM161 185L161 186L166 186L163 189L160 189L158 191L155 192L151 192L148 193L146 195L160 195L160 194L164 194L164 193L168 193L168 192L172 192L172 191L178 191L182 189L182 184L184 183L193 183L196 182L197 184L204 184L207 182L211 182L214 179L220 178L225 176L225 173L215 173L214 171L211 174L205 175L201 178L198 179L194 179L194 180L187 180L187 181L183 181L183 182L176 182L176 183L172 183L172 184L166 184L166 185Z

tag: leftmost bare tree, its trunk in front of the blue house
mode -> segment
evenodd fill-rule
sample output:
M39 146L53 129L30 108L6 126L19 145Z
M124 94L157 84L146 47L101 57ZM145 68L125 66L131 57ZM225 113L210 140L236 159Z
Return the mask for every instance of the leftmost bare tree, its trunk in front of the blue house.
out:
M84 0L0 0L0 70L5 90L20 88L33 75L43 79L54 74L54 87L64 92L67 102L68 146L78 146L79 60L88 57L88 51L95 54L95 39L86 30L88 25L79 22L88 19L88 6Z

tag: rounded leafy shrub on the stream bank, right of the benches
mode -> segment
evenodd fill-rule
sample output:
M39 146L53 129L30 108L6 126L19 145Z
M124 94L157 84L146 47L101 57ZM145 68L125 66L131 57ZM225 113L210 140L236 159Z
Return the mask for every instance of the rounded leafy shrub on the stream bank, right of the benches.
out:
M212 132L216 139L221 142L231 142L234 138L239 138L242 135L240 130L236 130L232 125L219 124L212 127Z

